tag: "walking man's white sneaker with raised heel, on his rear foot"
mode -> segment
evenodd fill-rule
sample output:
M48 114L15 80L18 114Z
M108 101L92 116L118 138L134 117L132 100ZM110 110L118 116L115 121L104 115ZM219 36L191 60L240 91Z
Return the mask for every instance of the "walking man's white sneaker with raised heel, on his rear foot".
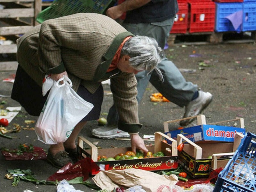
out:
M212 102L212 94L209 92L203 92L201 90L198 91L198 97L190 101L188 105L185 108L185 113L183 118L191 117L191 116L197 116L200 114L210 103ZM187 126L191 122L193 122L195 118L193 119L186 119L180 121L180 126Z

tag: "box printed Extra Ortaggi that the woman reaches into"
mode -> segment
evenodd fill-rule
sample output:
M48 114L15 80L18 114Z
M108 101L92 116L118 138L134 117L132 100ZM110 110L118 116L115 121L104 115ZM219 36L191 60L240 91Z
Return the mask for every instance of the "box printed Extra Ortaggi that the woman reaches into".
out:
M172 144L167 144L162 141L162 137L170 140ZM88 144L91 148L84 149L84 143ZM147 171L170 170L178 168L178 153L177 141L166 136L161 132L155 133L155 145L149 146L148 150L152 153L162 151L164 157L153 157L143 159L126 159L115 161L97 161L98 156L114 157L118 153L125 153L131 151L131 148L104 148L98 149L90 141L84 137L78 138L79 154L81 158L90 157L98 165L96 169L92 169L92 175L96 175L101 170L123 170L129 168L143 169Z

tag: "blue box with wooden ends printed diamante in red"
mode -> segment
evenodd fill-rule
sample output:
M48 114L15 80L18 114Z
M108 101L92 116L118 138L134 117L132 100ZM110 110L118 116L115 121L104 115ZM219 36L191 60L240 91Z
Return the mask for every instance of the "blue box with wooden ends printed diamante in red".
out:
M204 115L194 116L193 118L195 117L197 118L197 126L174 131L169 131L168 124L180 121L182 119L164 122L164 133L175 140L177 140L178 134L182 134L195 143L203 143L204 141L234 142L234 138L237 132L243 135L245 134L243 118L206 124ZM214 125L231 121L239 121L240 127Z

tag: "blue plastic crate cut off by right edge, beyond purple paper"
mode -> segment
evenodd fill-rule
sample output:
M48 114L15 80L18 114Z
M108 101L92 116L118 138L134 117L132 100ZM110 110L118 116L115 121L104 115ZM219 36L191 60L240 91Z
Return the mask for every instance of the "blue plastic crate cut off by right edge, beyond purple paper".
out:
M256 2L245 2L242 31L256 30Z

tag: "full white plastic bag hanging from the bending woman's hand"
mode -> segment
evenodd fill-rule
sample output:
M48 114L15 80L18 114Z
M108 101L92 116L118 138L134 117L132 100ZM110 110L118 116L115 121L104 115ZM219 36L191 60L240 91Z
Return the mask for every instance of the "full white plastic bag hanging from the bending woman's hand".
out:
M71 88L72 82L67 76L55 83L52 81L47 77L43 84L43 94L51 90L35 126L38 140L50 145L66 141L76 124L93 108Z

